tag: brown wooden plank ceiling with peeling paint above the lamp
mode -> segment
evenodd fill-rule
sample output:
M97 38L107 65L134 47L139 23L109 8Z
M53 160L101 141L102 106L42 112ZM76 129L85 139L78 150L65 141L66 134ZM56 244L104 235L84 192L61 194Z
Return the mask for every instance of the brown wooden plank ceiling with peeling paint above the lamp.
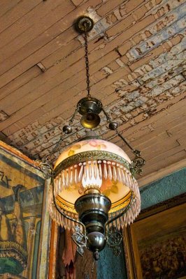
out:
M143 176L183 160L185 7L184 0L1 0L1 140L30 158L52 152L86 95L83 38L73 22L89 15L92 96L142 151ZM99 135L132 158L101 115ZM85 135L79 119L62 147Z

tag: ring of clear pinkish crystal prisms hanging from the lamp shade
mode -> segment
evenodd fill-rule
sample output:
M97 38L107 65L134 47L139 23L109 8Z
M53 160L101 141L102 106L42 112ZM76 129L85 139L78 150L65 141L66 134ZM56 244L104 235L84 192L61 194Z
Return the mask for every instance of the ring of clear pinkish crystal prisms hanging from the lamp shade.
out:
M87 161L84 163L79 163L78 165L73 165L68 169L63 169L56 177L54 181L54 195L57 197L59 193L62 193L63 190L69 188L73 184L79 183L82 181L84 175L84 179L88 176L92 178L94 175L95 178L99 176L100 179L109 179L110 181L119 181L125 186L127 186L132 193L134 193L134 199L131 202L131 206L129 210L124 213L124 215L117 220L113 221L110 225L114 225L117 229L124 228L127 224L131 224L134 222L136 217L138 216L141 210L141 197L138 189L138 183L136 179L131 175L129 169L124 167L123 165L115 162L111 162L108 160L94 160ZM49 196L48 196L48 210L50 216L53 220L57 222L58 225L61 225L65 229L74 229L76 225L75 222L65 218L62 214L57 211L55 204L53 202L53 193L52 186L50 186ZM62 209L60 209L62 211ZM122 211L122 209L120 210ZM116 214L119 214L120 211L115 213L110 213L109 218L115 217ZM69 217L78 220L78 216L65 212Z

